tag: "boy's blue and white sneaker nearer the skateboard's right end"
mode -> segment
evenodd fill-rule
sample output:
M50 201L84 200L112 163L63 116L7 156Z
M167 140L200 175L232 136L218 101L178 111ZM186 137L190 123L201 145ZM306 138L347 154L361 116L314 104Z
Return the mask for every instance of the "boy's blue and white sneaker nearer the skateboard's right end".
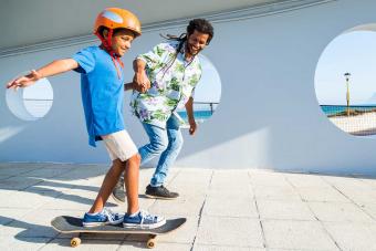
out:
M164 217L153 216L140 210L135 217L124 216L123 227L133 229L155 229L166 223Z

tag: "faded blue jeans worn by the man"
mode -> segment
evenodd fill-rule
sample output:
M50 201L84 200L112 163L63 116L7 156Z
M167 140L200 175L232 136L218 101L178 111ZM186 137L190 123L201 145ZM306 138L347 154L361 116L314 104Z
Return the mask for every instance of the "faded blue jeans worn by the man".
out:
M158 187L165 182L168 169L174 164L182 146L179 121L175 115L171 115L166 123L166 129L146 123L143 123L143 126L149 137L149 143L138 148L142 156L140 165L160 155L157 168L150 180L150 186Z

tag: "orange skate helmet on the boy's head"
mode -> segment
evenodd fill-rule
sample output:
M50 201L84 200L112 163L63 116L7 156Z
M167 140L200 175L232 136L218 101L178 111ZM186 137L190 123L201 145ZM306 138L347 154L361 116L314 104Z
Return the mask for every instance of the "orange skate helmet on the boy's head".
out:
M124 28L135 33L135 36L142 34L140 22L137 17L128 10L119 8L107 8L102 11L95 20L94 34L97 34L100 27L109 30Z

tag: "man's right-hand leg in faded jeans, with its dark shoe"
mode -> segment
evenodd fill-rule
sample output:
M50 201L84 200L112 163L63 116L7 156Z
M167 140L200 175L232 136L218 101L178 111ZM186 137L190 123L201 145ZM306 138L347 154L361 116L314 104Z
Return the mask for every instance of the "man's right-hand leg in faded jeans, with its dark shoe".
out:
M167 121L166 127L168 146L160 155L150 185L146 188L146 196L152 198L174 199L179 195L177 192L170 192L163 185L168 175L169 167L175 163L181 150L184 139L179 128L179 122L174 115Z

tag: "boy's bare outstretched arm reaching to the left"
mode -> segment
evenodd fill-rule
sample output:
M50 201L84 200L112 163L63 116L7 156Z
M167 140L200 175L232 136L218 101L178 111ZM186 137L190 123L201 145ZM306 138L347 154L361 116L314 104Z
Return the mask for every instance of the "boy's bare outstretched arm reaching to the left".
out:
M39 70L32 70L28 75L20 76L7 84L7 88L27 87L38 80L53 76L63 72L79 67L79 63L72 59L56 60Z

